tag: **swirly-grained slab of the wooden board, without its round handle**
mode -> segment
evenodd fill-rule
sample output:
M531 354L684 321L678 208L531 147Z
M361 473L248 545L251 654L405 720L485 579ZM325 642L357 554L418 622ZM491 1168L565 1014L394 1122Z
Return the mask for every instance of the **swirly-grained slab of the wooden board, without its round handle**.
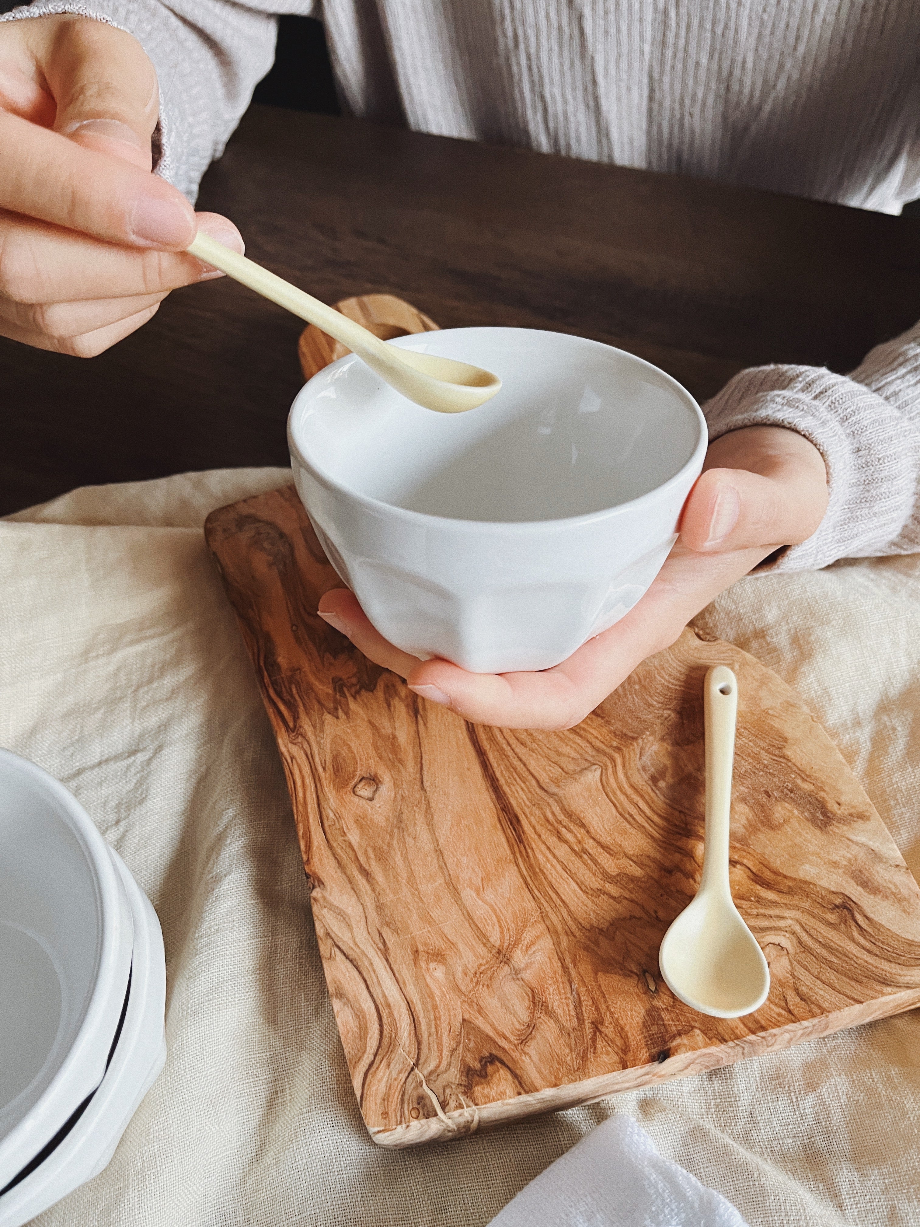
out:
M773 672L692 631L565 733L475 728L315 614L340 580L293 491L207 539L287 773L355 1092L408 1146L783 1048L920 1002L920 890ZM702 681L738 676L731 885L772 989L677 1001L656 953L702 864Z

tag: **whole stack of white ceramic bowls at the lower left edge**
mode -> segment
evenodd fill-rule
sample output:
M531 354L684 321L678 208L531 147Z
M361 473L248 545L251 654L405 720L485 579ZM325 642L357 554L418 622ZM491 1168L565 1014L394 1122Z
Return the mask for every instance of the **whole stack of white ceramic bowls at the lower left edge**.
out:
M102 1171L166 1060L159 921L74 796L0 750L0 1227Z

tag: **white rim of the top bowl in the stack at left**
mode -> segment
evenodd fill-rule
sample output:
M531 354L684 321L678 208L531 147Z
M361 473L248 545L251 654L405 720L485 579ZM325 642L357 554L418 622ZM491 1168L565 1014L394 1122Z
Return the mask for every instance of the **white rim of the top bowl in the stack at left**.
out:
M0 1139L4 1188L104 1076L130 974L134 918L108 844L74 794L43 767L11 750L0 748L0 772L31 777L58 802L58 817L66 821L90 866L99 918L92 990L74 1042L38 1099Z

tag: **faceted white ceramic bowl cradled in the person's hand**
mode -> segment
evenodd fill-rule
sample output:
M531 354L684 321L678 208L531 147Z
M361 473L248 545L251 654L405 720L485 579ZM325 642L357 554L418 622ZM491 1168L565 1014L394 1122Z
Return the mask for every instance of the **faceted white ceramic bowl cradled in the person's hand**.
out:
M391 341L502 390L433 413L353 355L291 410L301 499L373 625L475 672L548 669L639 600L673 545L707 427L675 379L599 341L467 328Z

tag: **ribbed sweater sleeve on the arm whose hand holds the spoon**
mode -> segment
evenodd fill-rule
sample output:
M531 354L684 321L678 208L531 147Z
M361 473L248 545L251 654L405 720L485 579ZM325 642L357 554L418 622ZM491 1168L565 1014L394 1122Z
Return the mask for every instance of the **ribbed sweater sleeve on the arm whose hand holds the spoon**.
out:
M72 13L134 34L159 81L156 172L194 202L271 67L276 15L308 16L314 7L315 0L36 0L0 21Z

